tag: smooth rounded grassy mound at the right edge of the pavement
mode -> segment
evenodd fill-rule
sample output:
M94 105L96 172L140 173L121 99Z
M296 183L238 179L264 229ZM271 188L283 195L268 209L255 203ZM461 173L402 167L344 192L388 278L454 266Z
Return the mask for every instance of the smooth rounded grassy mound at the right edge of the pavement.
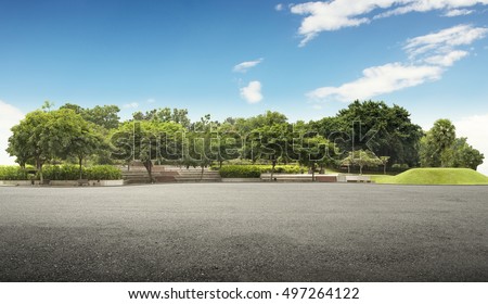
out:
M375 176L377 183L488 185L488 177L467 168L415 168L397 176Z

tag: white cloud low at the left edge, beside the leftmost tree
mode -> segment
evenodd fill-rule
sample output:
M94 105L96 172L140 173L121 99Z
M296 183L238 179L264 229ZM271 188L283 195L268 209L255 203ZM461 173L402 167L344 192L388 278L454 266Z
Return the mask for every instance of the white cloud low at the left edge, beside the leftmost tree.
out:
M24 118L24 114L15 106L0 100L0 165L12 165L15 157L9 156L5 149L9 147L10 129Z

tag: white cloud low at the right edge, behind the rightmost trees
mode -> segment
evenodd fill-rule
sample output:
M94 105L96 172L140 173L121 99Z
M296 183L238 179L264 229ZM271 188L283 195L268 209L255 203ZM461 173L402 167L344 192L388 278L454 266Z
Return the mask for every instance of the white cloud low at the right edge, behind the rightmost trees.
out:
M458 137L467 137L467 143L485 154L484 164L478 172L488 175L488 114L464 117L453 123Z

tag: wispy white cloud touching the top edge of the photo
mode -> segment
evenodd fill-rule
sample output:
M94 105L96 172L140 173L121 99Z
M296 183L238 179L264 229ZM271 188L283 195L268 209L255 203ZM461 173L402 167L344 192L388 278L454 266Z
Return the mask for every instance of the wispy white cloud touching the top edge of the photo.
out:
M303 47L322 31L360 26L375 18L432 10L445 10L446 15L454 16L472 13L465 8L476 4L488 4L488 0L332 0L292 4L290 10L305 16L298 28ZM374 11L383 12L371 17Z

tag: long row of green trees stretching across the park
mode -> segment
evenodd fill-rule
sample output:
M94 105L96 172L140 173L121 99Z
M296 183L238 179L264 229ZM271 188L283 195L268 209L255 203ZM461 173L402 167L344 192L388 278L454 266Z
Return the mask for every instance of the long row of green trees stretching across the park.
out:
M317 167L460 166L476 168L483 154L455 138L455 128L439 119L424 134L410 113L384 102L355 101L334 117L291 124L278 112L211 121L210 115L191 122L187 110L156 109L137 112L120 122L115 105L84 109L64 104L26 115L12 128L8 152L21 166L88 160L98 164L140 161L150 176L155 163L184 166L222 164L229 160L299 163Z

